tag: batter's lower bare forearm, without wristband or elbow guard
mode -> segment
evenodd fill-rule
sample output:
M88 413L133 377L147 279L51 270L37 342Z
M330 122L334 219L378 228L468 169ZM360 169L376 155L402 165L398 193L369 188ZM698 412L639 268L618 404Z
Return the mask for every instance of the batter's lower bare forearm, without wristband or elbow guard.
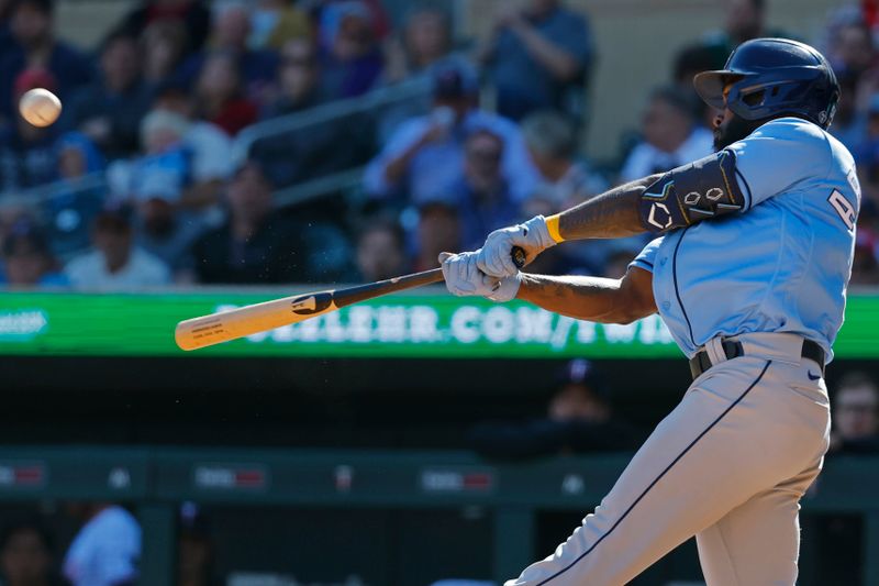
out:
M641 317L625 299L620 279L523 273L516 298L578 320L628 323Z

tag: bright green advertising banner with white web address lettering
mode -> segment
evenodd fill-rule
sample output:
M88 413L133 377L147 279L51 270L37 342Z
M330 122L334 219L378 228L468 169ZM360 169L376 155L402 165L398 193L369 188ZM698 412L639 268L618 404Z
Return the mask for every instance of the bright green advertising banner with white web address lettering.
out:
M0 355L659 358L680 351L658 316L627 325L522 303L442 294L396 295L185 353L178 321L277 298L272 294L0 294ZM853 296L837 356L877 357L879 297Z

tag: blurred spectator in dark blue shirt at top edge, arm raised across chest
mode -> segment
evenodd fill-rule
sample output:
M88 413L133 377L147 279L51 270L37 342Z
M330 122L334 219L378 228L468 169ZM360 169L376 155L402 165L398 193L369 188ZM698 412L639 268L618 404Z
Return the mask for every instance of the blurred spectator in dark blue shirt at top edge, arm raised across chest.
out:
M498 112L521 120L560 110L580 121L594 48L589 21L560 0L530 0L520 11L502 2L479 58L498 92Z

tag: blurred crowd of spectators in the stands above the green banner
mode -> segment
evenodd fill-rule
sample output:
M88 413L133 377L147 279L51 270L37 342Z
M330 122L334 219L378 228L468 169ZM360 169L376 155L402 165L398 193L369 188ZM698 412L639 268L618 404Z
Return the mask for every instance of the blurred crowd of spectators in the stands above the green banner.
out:
M0 0L0 286L337 283L434 267L493 229L710 154L714 113L692 76L748 38L798 34L772 29L763 0L724 2L619 155L597 164L581 148L601 53L588 14L501 2L485 38L463 40L450 5L142 0L84 48L56 36L53 0ZM808 40L839 77L831 130L860 170L856 284L879 284L876 21L842 8ZM64 103L45 129L16 109L36 87ZM421 91L363 106L402 87ZM357 169L355 187L297 196ZM533 269L615 277L644 243L563 246Z

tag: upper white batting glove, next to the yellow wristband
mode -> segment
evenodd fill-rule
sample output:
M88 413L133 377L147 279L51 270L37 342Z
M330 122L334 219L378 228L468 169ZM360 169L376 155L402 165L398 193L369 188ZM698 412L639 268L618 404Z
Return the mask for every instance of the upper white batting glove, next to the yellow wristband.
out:
M543 251L555 246L556 241L546 229L543 215L535 215L524 224L496 230L486 239L479 252L477 266L492 277L513 277L519 267L513 263L513 246L525 251L525 264L531 263Z

